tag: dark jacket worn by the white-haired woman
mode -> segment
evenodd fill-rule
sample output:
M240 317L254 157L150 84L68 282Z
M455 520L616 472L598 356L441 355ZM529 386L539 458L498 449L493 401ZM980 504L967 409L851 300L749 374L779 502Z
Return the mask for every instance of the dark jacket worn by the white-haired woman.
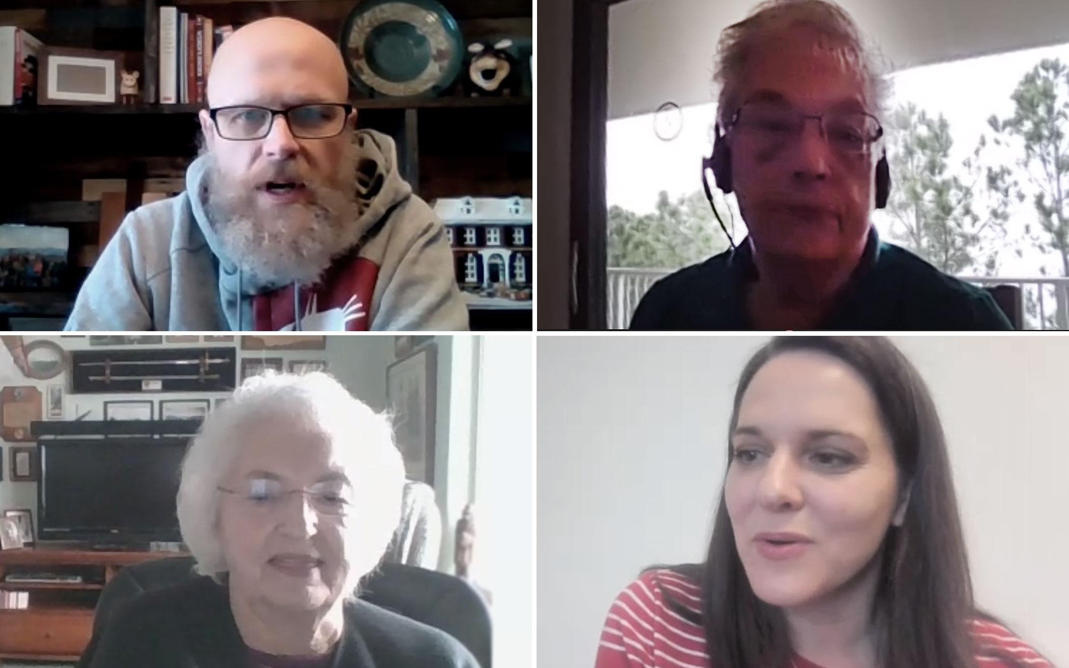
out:
M478 668L458 640L365 601L346 601L329 668ZM227 590L203 576L148 591L108 623L91 668L248 668Z

